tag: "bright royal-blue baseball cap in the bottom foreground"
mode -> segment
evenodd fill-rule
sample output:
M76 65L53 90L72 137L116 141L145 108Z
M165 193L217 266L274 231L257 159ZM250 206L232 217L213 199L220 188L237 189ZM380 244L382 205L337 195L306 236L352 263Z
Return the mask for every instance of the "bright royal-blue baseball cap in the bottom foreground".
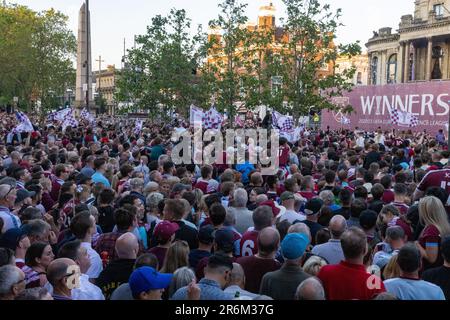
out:
M140 267L133 271L128 284L133 296L139 296L142 292L165 289L171 280L172 274L159 273L151 267Z

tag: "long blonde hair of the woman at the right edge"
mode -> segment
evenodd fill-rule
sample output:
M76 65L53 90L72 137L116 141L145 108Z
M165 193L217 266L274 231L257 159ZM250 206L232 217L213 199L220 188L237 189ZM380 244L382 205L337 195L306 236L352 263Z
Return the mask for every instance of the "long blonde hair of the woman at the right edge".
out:
M419 217L421 223L425 226L435 226L439 230L441 237L450 234L447 212L438 198L429 196L420 199Z

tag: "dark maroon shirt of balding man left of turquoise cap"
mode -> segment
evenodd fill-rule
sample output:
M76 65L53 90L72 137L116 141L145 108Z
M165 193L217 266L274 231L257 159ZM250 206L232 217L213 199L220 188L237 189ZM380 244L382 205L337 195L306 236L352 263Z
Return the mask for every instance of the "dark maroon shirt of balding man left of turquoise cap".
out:
M263 259L256 256L242 257L236 262L244 269L245 290L255 293L259 292L264 275L281 267L281 263L275 259Z

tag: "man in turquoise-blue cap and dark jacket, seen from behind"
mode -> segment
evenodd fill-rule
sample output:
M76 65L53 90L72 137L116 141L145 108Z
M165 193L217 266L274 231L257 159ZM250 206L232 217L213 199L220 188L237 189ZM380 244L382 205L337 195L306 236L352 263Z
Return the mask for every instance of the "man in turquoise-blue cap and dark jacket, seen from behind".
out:
M306 235L288 234L281 242L281 254L285 262L280 270L264 275L259 293L274 300L294 300L297 287L310 277L301 268L308 245Z

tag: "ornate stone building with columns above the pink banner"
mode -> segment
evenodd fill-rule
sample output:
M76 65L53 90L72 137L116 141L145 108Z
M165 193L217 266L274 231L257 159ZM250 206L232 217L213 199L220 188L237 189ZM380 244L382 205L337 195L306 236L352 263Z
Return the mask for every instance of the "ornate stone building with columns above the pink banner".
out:
M450 79L450 0L415 0L397 33L381 28L366 46L371 85Z

